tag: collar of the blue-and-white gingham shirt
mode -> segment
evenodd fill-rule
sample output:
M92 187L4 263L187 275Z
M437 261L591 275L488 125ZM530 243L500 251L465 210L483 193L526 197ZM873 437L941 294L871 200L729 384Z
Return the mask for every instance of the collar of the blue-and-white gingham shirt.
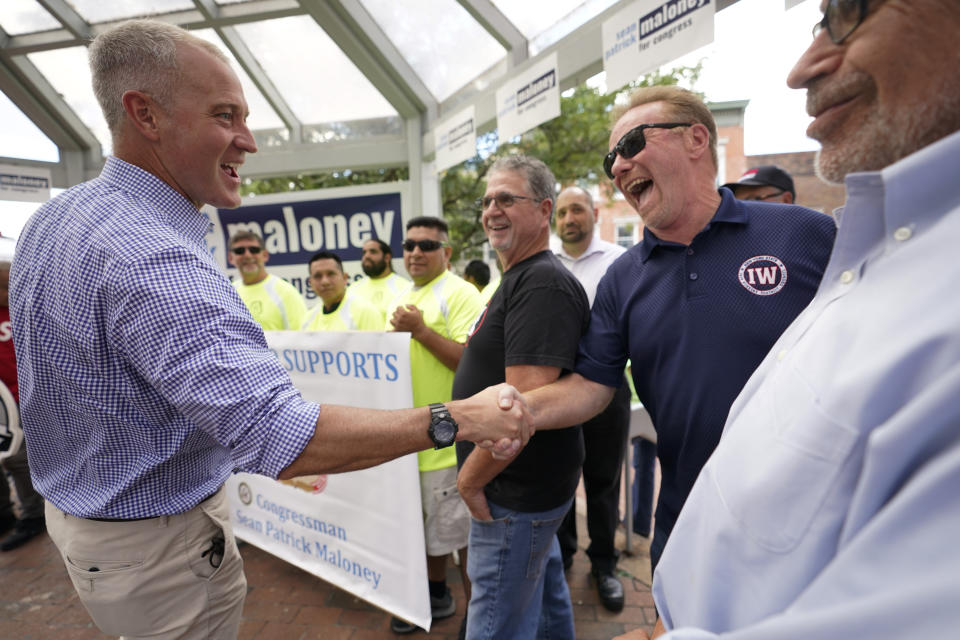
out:
M100 172L105 182L154 205L160 218L187 237L203 242L210 227L207 214L198 211L183 194L146 169L109 156Z

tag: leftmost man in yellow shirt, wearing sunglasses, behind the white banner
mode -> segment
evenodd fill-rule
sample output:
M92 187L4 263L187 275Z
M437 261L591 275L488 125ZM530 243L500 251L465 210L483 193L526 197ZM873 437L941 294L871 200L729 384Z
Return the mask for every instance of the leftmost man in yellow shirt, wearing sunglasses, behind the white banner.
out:
M233 286L250 315L264 330L298 330L307 317L307 304L296 287L267 273L263 238L252 231L239 231L230 238L227 262L240 272Z

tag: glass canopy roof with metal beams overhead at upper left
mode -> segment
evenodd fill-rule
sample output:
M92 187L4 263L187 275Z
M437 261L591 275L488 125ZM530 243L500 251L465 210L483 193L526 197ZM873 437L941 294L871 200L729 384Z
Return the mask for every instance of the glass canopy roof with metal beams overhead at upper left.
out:
M0 117L35 123L0 156L50 160L53 144L110 152L85 44L157 17L234 61L261 147L405 139L595 18L615 0L3 0ZM9 115L8 115L9 114ZM53 129L57 131L52 135ZM24 137L32 142L24 143ZM68 138L74 144L64 144ZM94 149L99 145L99 149Z

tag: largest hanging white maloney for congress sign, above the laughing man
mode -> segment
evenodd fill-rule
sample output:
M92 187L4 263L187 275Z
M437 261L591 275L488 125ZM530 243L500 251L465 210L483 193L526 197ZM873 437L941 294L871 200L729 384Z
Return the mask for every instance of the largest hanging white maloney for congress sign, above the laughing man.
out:
M637 0L603 23L608 91L713 42L711 0Z

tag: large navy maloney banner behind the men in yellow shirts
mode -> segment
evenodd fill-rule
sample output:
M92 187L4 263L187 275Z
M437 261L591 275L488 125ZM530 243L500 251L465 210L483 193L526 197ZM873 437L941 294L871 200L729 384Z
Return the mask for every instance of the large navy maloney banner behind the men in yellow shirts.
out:
M205 207L207 248L232 279L238 276L227 260L230 237L238 231L259 234L269 254L267 271L313 304L317 296L308 284L308 263L318 251L340 256L352 282L363 277L363 243L378 238L393 250L394 270L406 273L402 258L409 194L409 183L394 182L248 197L236 209Z

